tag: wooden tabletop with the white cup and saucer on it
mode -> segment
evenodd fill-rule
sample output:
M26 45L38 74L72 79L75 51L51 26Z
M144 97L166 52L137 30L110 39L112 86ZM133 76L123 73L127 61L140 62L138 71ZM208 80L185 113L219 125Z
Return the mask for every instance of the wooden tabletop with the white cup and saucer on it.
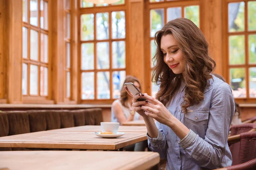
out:
M144 140L145 132L125 132L124 136L105 139L93 132L48 130L0 137L0 147L117 150Z

